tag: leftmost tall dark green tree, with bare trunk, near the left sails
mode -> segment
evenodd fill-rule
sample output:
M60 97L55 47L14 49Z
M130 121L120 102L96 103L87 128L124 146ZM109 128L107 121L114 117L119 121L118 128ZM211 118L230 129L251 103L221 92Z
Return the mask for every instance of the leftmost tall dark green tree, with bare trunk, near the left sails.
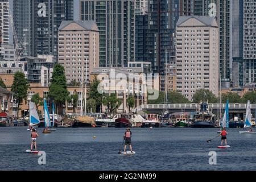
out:
M18 103L18 111L16 116L19 116L19 106L22 104L23 100L27 101L27 90L29 88L28 80L24 73L16 72L14 74L13 85L11 85L11 92L14 92L13 98L16 103Z

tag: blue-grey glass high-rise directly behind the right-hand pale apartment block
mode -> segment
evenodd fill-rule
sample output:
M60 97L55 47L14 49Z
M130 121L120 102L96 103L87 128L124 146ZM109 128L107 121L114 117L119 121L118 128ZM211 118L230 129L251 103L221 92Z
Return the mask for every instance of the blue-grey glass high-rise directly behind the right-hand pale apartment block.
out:
M213 16L216 17L220 32L220 46L219 46L219 56L220 56L220 80L221 88L230 87L230 75L232 69L232 63L230 64L230 47L232 39L232 31L230 31L230 24L232 24L232 16L230 8L234 1L226 0L197 0L194 1L194 15L197 16Z

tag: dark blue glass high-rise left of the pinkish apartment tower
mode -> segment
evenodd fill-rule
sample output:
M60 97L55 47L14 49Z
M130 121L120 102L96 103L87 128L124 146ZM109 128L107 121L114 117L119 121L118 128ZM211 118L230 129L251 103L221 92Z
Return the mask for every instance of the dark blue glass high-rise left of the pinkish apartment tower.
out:
M58 28L73 20L73 0L14 0L13 17L18 40L26 35L22 55L53 55L57 61Z

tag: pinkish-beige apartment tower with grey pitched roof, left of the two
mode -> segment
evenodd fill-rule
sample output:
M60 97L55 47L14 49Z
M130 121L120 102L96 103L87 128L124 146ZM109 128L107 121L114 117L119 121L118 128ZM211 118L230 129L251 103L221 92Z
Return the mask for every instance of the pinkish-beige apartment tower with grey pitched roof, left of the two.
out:
M93 68L99 67L99 31L96 23L63 21L59 27L58 46L58 63L65 69L67 82L89 81Z

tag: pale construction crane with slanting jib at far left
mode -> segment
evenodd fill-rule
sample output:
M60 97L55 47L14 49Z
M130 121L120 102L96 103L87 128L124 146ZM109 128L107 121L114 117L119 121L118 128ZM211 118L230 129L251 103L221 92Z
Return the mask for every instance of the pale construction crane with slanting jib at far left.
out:
M26 51L26 34L23 34L22 39L18 40L18 36L16 33L16 29L14 26L14 21L13 21L13 15L11 15L11 10L9 8L9 19L10 19L10 24L11 24L11 29L13 30L13 37L14 37L14 43L15 43L15 60L19 61L20 60L20 53L24 50Z

